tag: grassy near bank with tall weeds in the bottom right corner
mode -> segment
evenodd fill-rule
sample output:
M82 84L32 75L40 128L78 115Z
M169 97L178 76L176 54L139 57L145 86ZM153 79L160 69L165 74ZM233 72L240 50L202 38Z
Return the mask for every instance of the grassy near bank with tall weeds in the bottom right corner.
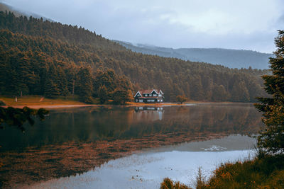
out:
M253 160L222 164L205 181L197 176L197 188L284 188L284 155L261 155ZM165 178L160 188L190 188Z

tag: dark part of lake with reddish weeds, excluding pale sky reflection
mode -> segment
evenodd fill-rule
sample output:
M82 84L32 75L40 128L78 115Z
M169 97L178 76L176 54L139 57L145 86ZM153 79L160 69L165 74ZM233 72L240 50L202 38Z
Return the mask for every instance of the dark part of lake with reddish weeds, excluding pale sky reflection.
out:
M261 126L261 113L251 104L50 110L45 122L26 127L25 134L1 130L0 185L71 176L140 149L255 134Z

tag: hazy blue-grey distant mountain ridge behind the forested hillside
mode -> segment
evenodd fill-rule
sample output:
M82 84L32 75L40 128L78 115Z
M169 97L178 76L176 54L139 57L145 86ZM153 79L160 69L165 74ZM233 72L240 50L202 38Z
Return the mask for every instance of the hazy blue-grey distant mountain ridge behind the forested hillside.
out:
M229 68L268 69L269 57L273 54L256 52L253 50L229 50L221 48L179 48L155 47L152 45L137 44L114 40L133 52L141 52L160 57L175 57L192 62L207 62L220 64Z

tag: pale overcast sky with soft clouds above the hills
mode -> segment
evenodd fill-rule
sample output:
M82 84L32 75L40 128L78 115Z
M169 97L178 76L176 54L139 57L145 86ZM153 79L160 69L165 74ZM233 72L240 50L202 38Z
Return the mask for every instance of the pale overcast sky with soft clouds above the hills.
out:
M283 0L0 0L111 40L273 52Z

